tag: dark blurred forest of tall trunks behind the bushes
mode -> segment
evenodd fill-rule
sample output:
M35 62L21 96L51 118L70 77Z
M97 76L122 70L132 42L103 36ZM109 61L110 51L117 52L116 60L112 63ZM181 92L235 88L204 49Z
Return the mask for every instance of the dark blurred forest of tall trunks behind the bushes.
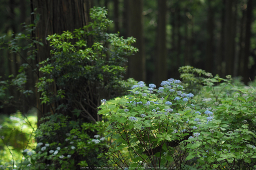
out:
M124 78L159 85L168 78L179 78L180 66L191 65L221 77L240 77L245 84L255 79L253 0L1 0L0 36L6 35L8 41L36 26L31 36L39 38L39 45L35 45L38 53L29 63L38 68L38 63L50 56L46 37L87 25L89 9L94 6L108 9L108 18L114 21L108 33L120 32L124 38L136 38L133 46L139 52L128 57ZM3 82L10 80L10 75L19 74L20 66L27 62L24 56L30 52L0 51ZM0 91L1 114L39 111L39 119L43 117L41 113L52 111L49 104L41 103L35 83L42 73L34 71L26 73L26 89L36 95L25 101L16 89L9 89L4 95ZM5 103L10 96L15 103Z

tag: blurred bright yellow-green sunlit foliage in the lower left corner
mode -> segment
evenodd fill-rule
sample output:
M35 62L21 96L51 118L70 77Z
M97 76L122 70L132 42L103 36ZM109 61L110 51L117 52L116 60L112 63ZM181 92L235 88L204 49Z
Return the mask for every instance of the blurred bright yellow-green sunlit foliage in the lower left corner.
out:
M37 127L35 116L25 116L19 111L0 119L0 169L12 170L20 163L26 163L23 150L36 146L34 130Z

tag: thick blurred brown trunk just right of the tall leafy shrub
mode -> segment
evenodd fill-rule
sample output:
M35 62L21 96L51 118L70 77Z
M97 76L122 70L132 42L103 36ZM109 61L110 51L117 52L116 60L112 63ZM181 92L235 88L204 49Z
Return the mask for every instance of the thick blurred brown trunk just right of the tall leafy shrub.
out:
M139 52L129 57L128 77L133 77L137 81L146 81L146 56L143 38L143 1L128 1L128 36L136 38L134 47Z

